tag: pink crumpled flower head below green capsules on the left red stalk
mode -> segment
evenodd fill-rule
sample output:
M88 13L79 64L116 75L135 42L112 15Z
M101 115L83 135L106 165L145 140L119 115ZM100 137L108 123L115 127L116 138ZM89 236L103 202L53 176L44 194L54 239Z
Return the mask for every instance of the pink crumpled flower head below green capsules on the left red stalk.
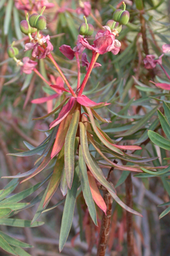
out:
M38 59L44 59L46 55L48 55L54 49L53 45L49 40L50 40L49 36L43 36L43 38L39 39L39 41L35 40L35 42L33 43L27 43L25 44L25 52L30 49L33 49L33 52L32 52L33 57L36 57ZM47 47L44 50L44 52L41 52L41 54L38 57L38 54L39 54L38 46L45 43L47 44Z

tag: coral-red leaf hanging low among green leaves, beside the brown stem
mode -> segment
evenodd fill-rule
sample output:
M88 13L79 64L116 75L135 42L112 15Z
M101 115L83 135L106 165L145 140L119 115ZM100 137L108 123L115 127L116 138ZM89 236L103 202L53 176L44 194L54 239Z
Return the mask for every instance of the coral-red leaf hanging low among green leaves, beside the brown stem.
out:
M97 184L95 183L95 179L93 175L91 175L90 172L88 173L88 181L90 184L90 190L91 190L93 199L95 201L95 204L97 204L98 207L101 208L102 211L106 214L106 211L107 211L106 203L103 200L103 197L101 196L101 193L98 189Z

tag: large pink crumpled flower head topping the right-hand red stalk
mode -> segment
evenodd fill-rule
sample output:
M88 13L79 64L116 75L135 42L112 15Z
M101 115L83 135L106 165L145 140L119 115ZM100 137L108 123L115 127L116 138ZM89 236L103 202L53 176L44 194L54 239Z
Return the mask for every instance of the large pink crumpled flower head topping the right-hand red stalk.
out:
M114 55L117 55L121 43L115 39L114 33L111 33L111 28L109 26L104 26L105 31L98 32L95 35L95 41L93 45L88 43L87 39L80 39L80 43L87 49L92 50L93 52L98 52L100 55L103 55L106 52L112 52Z

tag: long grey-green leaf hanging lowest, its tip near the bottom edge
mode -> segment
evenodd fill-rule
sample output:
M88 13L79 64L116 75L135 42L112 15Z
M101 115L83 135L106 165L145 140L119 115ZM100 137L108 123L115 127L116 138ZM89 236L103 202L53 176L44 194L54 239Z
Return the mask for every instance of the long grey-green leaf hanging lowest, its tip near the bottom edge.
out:
M59 251L64 247L65 242L67 241L67 237L69 236L69 231L72 226L72 219L75 210L75 202L76 202L76 193L79 183L78 177L78 167L75 168L75 175L72 183L72 188L68 190L66 201L64 204L64 212L61 221L61 230L59 236Z

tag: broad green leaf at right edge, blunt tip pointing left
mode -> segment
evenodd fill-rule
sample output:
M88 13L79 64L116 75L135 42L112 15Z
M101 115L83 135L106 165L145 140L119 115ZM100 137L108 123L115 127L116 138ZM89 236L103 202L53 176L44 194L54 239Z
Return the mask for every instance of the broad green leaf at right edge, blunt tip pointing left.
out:
M148 131L148 136L154 144L170 151L170 140L166 140L164 137L153 131Z

